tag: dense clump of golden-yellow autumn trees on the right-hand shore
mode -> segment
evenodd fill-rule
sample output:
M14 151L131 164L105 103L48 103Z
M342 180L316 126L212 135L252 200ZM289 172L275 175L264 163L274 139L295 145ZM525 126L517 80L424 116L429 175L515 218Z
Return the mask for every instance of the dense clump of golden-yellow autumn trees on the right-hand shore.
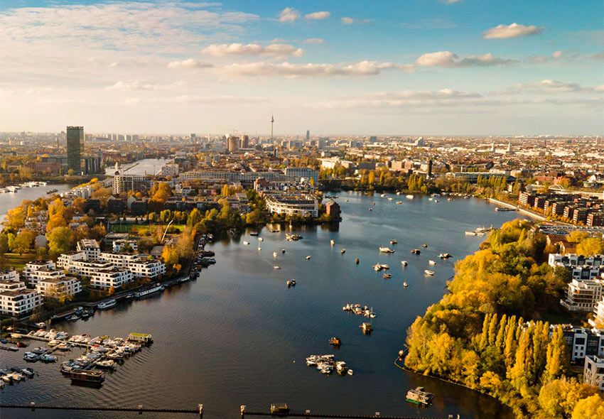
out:
M544 239L530 227L507 222L456 264L451 292L409 328L405 364L489 393L519 418L603 417L597 390L566 376L561 328L524 320L559 310L570 279L541 263Z

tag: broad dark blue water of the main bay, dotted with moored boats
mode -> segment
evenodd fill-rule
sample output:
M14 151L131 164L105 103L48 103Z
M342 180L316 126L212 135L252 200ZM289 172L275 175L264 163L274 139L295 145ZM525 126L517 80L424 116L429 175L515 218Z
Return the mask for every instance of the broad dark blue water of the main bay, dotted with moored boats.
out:
M92 336L147 332L155 342L107 374L99 389L70 385L58 364L33 364L40 376L6 386L0 393L2 402L189 409L203 403L204 418L210 419L238 418L242 404L248 410L266 411L274 402L313 413L512 418L494 399L401 371L394 359L411 322L443 295L455 261L476 251L484 239L465 236L465 230L500 226L517 214L495 212L493 205L475 199L441 197L434 202L427 197L388 196L404 204L377 195L342 192L338 202L344 220L338 229L302 228L298 234L303 239L295 242L286 241L285 232L267 229L261 231L261 243L249 234L222 239L208 246L216 252L217 263L197 281L168 288L147 300L119 303L86 321L53 325ZM374 210L369 211L370 207ZM399 242L392 246L396 253L379 254L378 247L389 246L392 239ZM243 241L249 241L249 246ZM424 243L428 248L421 255L410 254ZM286 253L281 254L281 249ZM345 254L341 249L346 249ZM273 256L274 251L278 256ZM453 258L438 259L441 252ZM355 258L360 259L358 265ZM429 259L436 265L428 265ZM409 266L403 268L401 260L409 261ZM389 264L392 278L384 279L383 273L373 271L378 262ZM424 276L426 268L436 274ZM291 278L297 285L286 288ZM409 283L408 288L402 286L403 281ZM347 303L374 308L378 316L372 334L364 335L359 328L365 317L342 310ZM342 339L340 349L328 344L332 336ZM311 354L335 354L355 375L320 374L305 364ZM78 355L71 352L67 358ZM22 357L23 350L3 351L0 365L24 365ZM406 391L416 386L436 394L433 406L406 403ZM65 413L52 410L5 409L2 413L2 418L64 417ZM107 415L78 412L77 417ZM144 413L144 417L170 416Z

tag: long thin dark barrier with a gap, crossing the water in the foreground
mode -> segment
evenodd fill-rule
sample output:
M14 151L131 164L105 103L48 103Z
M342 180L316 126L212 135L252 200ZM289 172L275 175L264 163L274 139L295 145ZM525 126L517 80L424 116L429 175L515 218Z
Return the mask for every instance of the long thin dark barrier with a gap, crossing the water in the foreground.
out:
M144 408L143 405L139 405L136 408L126 407L106 407L106 406L51 406L51 405L38 405L35 402L30 404L9 404L1 403L1 409L28 409L32 412L36 410L79 410L79 411L96 411L96 412L138 412L139 415L142 413L185 413L189 415L198 415L199 418L203 418L203 404L199 404L197 409L171 409L171 408ZM6 411L6 410L5 410ZM279 418L340 418L340 419L453 419L453 415L448 415L448 418L443 417L428 417L428 416L382 416L379 412L374 415L346 415L338 413L311 413L311 410L305 410L303 413L272 413L272 412L252 412L247 411L246 406L240 407L241 415L240 419L244 419L247 416L273 416ZM212 415L221 415L219 412L210 412ZM459 415L456 415L456 419L459 419Z

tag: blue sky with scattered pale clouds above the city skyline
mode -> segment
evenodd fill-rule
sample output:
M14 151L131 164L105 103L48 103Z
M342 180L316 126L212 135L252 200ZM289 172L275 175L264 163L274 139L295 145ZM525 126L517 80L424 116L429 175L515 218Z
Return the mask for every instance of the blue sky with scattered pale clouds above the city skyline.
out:
M601 135L601 0L0 0L0 131Z

